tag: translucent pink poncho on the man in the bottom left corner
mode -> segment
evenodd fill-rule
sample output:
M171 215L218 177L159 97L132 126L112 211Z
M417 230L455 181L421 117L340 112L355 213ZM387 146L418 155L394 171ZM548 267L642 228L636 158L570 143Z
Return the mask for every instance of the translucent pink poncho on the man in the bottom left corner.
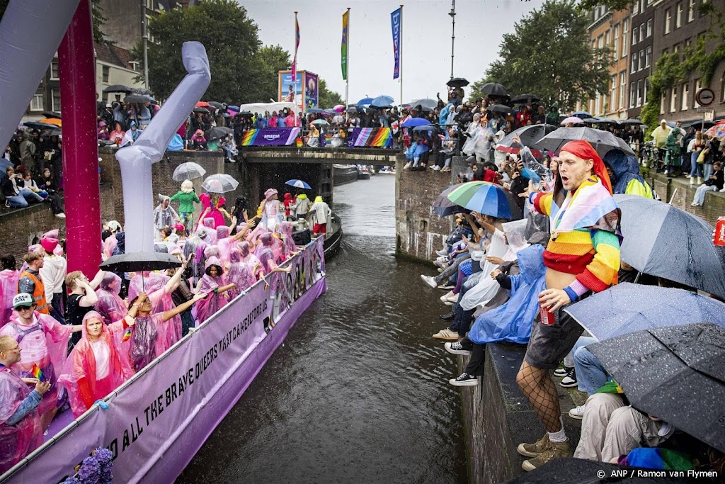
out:
M0 474L43 444L38 409L30 411L17 424L7 424L7 419L31 391L33 388L25 384L19 374L0 366Z

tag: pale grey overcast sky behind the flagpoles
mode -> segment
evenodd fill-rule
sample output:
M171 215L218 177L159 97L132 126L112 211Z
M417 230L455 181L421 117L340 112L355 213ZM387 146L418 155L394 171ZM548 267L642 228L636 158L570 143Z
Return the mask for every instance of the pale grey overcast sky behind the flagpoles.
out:
M328 89L345 97L340 68L342 14L350 7L349 102L369 95L400 99L393 81L390 13L403 7L403 99L444 97L451 73L450 0L236 0L260 28L265 45L279 44L294 53L294 11L299 12L297 69L310 70L327 81ZM453 75L473 83L497 58L504 33L543 0L457 0L455 2L455 64ZM515 94L515 93L514 93ZM466 91L468 95L468 91ZM266 100L266 99L265 99ZM260 99L262 101L262 99Z

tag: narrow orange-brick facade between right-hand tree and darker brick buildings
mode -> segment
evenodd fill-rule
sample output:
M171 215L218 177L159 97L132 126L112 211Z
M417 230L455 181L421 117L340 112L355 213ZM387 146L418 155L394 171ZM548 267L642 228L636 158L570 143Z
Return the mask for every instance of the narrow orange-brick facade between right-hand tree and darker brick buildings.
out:
M592 115L614 119L627 118L629 24L629 10L614 12L607 7L597 7L592 10L592 24L589 25L592 49L608 46L614 61L610 67L608 91L598 93L593 99L589 99L587 110Z

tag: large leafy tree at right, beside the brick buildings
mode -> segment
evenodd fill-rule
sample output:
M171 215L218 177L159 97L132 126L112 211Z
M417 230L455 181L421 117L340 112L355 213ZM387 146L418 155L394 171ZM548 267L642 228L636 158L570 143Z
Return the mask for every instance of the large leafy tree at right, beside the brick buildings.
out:
M474 83L471 96L487 81L502 83L512 95L531 92L560 110L573 110L605 92L612 64L610 50L589 45L589 18L573 0L548 0L503 36L499 60Z

